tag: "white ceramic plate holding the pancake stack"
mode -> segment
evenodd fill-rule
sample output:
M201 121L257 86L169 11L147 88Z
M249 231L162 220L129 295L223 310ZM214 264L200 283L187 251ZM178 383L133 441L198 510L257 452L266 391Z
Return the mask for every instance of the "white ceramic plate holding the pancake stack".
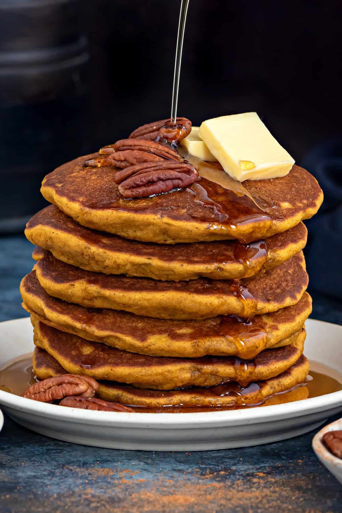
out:
M309 320L305 354L313 370L342 382L342 327ZM28 318L0 323L0 369L32 351ZM320 362L320 363L316 363ZM284 440L317 428L342 411L342 390L263 408L198 413L113 413L63 408L0 390L3 411L19 424L52 438L116 449L209 450Z

